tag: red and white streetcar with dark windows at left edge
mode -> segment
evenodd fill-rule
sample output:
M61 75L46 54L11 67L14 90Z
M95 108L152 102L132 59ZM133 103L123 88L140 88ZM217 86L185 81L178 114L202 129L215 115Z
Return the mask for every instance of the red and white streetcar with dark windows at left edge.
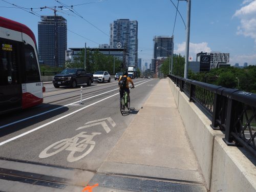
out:
M25 25L0 17L0 114L42 103L34 33Z

